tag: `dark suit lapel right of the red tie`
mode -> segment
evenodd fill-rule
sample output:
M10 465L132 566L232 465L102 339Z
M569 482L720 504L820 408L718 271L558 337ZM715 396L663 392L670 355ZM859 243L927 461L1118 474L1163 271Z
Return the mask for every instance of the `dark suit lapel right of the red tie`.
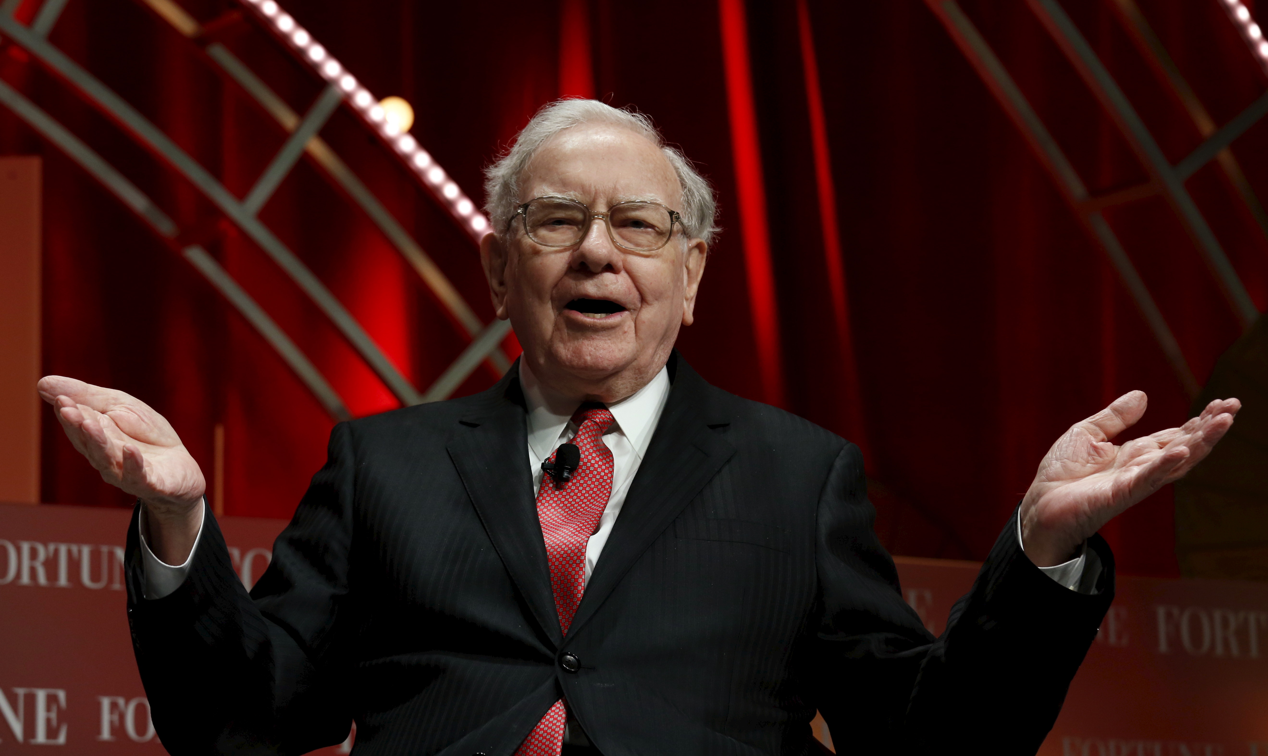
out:
M709 384L677 351L671 359L676 363L673 372L677 374L670 389L670 401L652 436L647 458L630 485L612 534L586 585L568 628L573 634L593 616L625 572L735 453L734 446L710 430L711 420L701 411L708 405ZM725 419L719 424L725 424Z

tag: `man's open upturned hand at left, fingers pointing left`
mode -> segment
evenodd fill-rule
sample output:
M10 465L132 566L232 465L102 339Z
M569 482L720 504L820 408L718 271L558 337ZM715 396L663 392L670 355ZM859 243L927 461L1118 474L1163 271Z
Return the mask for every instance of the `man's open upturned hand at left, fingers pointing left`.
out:
M167 420L122 391L74 378L47 375L37 391L101 478L146 502L155 554L183 563L202 523L207 482Z

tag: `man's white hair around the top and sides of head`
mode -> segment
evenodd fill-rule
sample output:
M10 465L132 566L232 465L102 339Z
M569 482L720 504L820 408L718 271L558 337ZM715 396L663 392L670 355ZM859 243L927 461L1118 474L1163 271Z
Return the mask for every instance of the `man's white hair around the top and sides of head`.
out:
M701 176L680 150L664 143L652 119L635 110L618 109L598 100L566 99L544 105L520 129L515 143L497 161L484 170L484 212L493 222L493 231L506 232L506 226L520 203L520 176L538 150L552 137L574 126L609 123L620 126L645 137L661 148L682 185L682 207L675 208L682 216L683 231L691 238L711 244L718 233L718 200L713 186Z

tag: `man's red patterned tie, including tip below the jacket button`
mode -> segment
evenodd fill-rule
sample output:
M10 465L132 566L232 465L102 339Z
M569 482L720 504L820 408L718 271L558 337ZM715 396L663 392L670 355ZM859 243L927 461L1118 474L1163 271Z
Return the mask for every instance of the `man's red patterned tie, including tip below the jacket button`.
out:
M572 421L577 424L572 443L581 450L581 466L566 487L543 476L538 491L538 519L547 542L550 586L559 627L566 635L586 590L586 543L598 528L598 519L612 495L612 453L604 444L604 433L614 422L612 414L602 406L583 405ZM550 462L554 458L552 454ZM563 701L555 701L515 756L559 756L567 718Z

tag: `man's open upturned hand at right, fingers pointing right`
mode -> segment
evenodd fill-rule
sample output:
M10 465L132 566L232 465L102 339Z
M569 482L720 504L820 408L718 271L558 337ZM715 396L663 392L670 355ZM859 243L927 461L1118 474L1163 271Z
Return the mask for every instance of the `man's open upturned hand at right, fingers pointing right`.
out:
M1089 535L1113 516L1184 477L1201 462L1241 408L1215 400L1181 427L1169 427L1121 446L1111 440L1145 414L1146 397L1132 391L1052 444L1021 506L1022 544L1040 567L1071 558Z

